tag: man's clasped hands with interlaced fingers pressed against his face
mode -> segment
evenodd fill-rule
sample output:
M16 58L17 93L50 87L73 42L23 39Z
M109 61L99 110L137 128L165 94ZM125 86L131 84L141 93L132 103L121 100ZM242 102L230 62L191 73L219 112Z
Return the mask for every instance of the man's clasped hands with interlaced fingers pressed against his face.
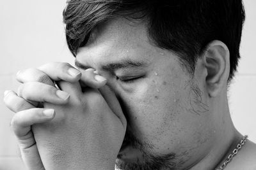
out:
M4 103L16 113L11 125L28 169L114 169L127 122L104 78L53 62L17 80Z

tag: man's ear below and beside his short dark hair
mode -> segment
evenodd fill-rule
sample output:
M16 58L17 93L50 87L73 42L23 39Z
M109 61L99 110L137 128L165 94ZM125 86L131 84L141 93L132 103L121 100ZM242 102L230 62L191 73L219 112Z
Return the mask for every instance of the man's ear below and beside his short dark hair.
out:
M229 50L224 43L214 40L208 44L203 55L207 70L207 90L210 97L216 97L227 86L230 71Z

